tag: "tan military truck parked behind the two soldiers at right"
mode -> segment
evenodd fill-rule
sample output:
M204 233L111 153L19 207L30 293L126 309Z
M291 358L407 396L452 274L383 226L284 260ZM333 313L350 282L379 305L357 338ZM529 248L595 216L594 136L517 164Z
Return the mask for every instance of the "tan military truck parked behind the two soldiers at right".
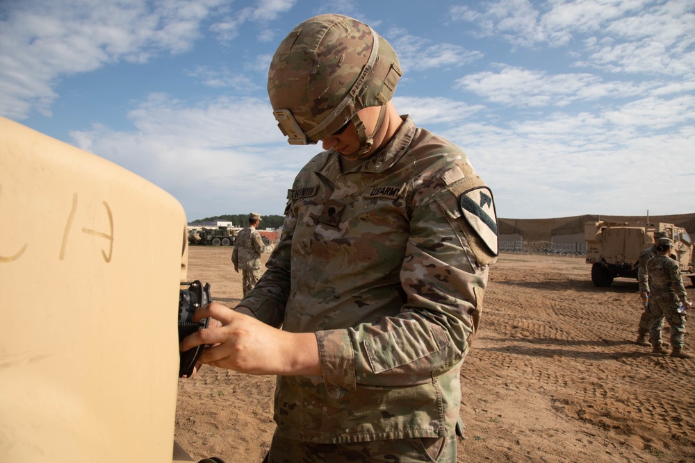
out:
M687 285L695 285L695 252L685 228L657 222L589 221L584 224L587 241L587 264L591 264L591 281L596 287L608 287L614 278L637 279L639 255L654 244L654 232L664 230L673 239L671 258L678 262Z

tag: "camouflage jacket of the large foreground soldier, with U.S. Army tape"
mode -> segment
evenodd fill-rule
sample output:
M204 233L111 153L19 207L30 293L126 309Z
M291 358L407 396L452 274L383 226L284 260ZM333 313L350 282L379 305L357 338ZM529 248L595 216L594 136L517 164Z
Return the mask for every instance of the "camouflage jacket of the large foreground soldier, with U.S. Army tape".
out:
M478 219L464 218L469 209ZM288 191L267 270L240 303L272 326L316 332L322 377L277 378L279 435L452 435L497 251L490 190L457 146L409 117L355 169L341 172L335 151L316 155Z

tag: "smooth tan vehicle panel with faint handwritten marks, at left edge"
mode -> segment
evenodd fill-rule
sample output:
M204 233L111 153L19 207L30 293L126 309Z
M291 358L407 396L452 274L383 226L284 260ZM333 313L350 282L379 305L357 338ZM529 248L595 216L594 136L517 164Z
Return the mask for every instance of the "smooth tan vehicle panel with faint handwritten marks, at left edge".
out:
M0 461L171 462L179 202L0 118L0 217Z

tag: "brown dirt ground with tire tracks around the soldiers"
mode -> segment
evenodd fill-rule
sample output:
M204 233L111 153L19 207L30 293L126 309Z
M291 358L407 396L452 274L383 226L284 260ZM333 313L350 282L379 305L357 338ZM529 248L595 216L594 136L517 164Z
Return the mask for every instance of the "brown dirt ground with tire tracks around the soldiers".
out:
M193 246L188 278L234 307L241 280L230 256ZM637 281L596 288L589 273L583 257L503 254L492 267L461 373L459 462L695 461L695 360L637 346ZM685 341L692 352L693 335ZM196 461L261 462L274 386L213 367L179 380L176 440Z

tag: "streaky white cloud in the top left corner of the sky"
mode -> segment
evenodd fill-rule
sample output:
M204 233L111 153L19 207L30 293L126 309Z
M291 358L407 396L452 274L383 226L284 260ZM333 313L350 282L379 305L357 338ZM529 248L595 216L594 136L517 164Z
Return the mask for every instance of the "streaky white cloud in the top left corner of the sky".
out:
M50 114L63 76L120 60L187 51L212 8L227 0L15 2L0 22L0 113Z

